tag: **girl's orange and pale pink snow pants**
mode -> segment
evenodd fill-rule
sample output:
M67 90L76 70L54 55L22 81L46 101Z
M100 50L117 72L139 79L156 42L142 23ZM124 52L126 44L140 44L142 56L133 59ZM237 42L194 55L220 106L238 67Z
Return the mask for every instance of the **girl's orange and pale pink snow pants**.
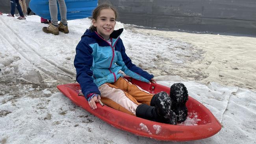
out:
M153 94L122 77L115 83L104 83L99 90L104 104L131 115L136 115L136 108L141 103L150 105L153 97Z

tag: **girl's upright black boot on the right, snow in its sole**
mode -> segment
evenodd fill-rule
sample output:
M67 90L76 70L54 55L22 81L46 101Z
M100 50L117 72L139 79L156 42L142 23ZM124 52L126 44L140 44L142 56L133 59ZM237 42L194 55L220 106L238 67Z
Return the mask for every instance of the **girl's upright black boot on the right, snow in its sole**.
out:
M172 101L171 109L176 114L177 122L184 122L187 119L187 88L183 83L174 83L170 89L170 97Z

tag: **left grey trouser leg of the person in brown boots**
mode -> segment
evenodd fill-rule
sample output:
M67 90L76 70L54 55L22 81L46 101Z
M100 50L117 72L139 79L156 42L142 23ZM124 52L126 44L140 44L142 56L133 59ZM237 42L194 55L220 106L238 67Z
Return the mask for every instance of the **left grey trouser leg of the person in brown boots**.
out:
M58 26L58 7L57 0L49 0L49 9L51 15L51 21L54 26Z

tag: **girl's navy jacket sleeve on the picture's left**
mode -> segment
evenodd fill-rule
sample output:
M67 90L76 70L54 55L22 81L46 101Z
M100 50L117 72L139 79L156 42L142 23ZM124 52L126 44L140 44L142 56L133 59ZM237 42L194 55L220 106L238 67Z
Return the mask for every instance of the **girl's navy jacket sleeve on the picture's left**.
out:
M76 46L76 56L74 58L74 66L76 68L76 81L80 84L82 92L88 100L87 95L98 93L98 87L93 82L93 49L82 40Z

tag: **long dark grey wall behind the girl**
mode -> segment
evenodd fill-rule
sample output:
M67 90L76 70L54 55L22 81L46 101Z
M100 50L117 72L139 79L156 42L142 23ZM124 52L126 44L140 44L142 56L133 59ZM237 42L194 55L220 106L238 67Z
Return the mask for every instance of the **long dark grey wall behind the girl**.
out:
M106 0L98 0L101 4ZM123 23L256 35L256 0L109 0Z

